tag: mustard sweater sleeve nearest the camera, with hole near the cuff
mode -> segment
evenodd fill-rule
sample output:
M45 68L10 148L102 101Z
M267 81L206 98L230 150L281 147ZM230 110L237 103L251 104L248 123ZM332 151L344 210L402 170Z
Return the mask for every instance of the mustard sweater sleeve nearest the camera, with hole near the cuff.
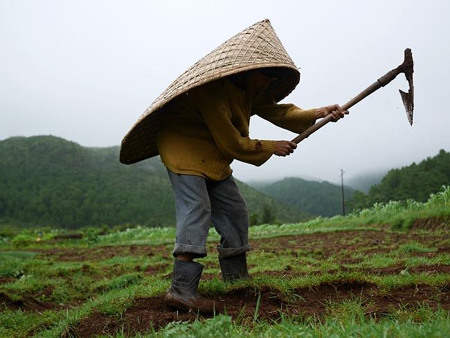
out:
M231 159L261 166L276 149L276 141L250 139L233 125L230 109L221 96L204 95L199 105L204 123L217 148Z

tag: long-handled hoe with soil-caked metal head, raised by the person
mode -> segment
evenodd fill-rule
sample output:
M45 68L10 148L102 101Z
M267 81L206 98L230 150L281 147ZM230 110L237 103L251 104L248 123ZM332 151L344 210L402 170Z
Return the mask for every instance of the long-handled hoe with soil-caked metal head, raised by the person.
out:
M408 80L409 84L409 90L408 93L405 93L402 90L399 90L400 95L402 96L403 104L406 109L406 116L408 117L408 122L410 125L413 125L413 110L414 110L414 85L413 85L413 69L414 62L413 62L413 53L411 53L410 48L405 49L405 57L402 64L400 64L397 68L393 69L392 71L388 71L388 73L384 74L379 78L377 81L370 84L369 87L361 91L357 96L352 98L352 100L348 101L348 103L345 103L342 107L344 110L350 109L350 107L353 107L359 101L363 100L363 98L366 98L370 94L372 94L374 91L380 89L381 87L386 86L389 82L394 80L399 73L404 73L406 76L406 80ZM312 127L309 127L305 132L298 135L295 139L292 140L292 142L300 143L304 139L306 139L309 135L311 135L313 132L316 132L321 127L332 121L333 116L330 114L326 116L325 118L322 118L321 121L313 125Z

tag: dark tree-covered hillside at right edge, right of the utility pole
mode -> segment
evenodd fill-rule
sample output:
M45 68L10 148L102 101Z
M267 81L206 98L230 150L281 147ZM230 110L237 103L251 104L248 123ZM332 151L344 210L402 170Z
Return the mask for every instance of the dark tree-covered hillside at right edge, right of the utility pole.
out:
M419 164L390 170L367 194L357 191L349 201L349 208L361 209L390 200L424 202L443 185L450 185L450 153L440 150L435 157L424 159Z

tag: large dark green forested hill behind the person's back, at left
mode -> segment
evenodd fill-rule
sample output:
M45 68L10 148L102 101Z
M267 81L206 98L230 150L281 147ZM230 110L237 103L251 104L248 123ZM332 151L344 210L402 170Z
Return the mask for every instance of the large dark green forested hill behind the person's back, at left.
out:
M54 136L0 141L0 222L79 227L174 225L172 188L159 158L125 166L118 147L84 148ZM253 222L305 215L238 183Z

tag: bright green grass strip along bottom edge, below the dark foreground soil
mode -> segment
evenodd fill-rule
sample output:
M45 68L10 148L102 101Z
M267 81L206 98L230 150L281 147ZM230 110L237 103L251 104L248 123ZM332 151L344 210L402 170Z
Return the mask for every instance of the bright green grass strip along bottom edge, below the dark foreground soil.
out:
M345 319L329 318L323 323L298 323L289 317L280 323L256 321L253 327L239 326L230 317L219 315L207 321L172 323L162 332L136 337L447 337L450 332L448 314L438 312L428 316L420 325L411 317L406 320L376 322L361 320L360 314ZM116 337L123 337L117 335Z

